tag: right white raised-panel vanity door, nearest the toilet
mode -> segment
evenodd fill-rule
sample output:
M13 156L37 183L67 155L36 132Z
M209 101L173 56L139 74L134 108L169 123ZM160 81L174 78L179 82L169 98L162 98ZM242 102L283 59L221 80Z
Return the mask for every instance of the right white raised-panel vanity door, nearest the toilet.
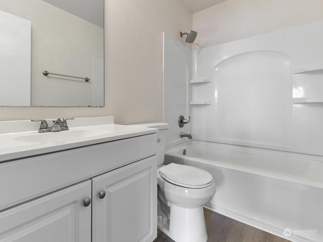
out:
M92 178L92 242L153 241L157 236L156 156ZM104 191L105 197L99 198Z

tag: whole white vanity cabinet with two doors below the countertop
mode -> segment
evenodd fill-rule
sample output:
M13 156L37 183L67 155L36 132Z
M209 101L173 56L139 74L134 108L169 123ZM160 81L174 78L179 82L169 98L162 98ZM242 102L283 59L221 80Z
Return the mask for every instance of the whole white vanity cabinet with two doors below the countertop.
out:
M0 163L0 241L152 242L155 154L151 133Z

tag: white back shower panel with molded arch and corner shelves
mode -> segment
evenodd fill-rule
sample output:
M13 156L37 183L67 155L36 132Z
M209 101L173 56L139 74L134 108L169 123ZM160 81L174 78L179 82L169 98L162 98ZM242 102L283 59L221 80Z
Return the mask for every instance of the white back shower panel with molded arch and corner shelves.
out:
M323 155L323 21L193 50L195 139Z

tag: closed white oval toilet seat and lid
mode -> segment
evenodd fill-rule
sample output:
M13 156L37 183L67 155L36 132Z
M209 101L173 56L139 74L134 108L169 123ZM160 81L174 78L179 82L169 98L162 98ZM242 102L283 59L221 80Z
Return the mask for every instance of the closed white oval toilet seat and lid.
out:
M184 188L207 188L214 183L210 173L189 165L171 163L160 167L158 172L169 183Z

